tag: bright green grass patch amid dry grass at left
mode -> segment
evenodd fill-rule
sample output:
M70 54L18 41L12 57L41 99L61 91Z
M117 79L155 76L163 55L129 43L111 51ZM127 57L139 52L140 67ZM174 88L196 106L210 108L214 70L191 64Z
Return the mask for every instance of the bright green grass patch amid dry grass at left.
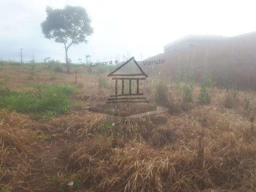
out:
M78 91L71 85L31 85L34 91L8 91L0 95L0 108L34 113L36 118L52 118L70 111L74 105L69 96Z

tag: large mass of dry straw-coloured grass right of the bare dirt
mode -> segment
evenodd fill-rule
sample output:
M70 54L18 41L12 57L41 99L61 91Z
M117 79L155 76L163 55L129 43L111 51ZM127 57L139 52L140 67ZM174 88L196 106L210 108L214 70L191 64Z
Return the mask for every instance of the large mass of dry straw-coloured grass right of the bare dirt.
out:
M111 139L85 126L84 140L66 151L67 177L79 174L95 191L254 191L255 138L250 122L238 117L200 106L164 125L148 120L158 132Z

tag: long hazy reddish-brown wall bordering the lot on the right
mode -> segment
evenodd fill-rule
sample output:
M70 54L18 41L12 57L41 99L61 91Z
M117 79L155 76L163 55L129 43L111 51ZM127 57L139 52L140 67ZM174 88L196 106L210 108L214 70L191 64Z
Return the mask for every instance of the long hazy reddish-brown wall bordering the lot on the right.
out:
M189 46L192 43L194 46ZM171 77L180 71L182 76L193 74L195 80L200 81L204 73L210 72L216 82L229 78L238 86L256 88L255 32L200 44L186 40L166 49L160 57L165 60L164 64L143 66L148 74L161 71L162 75ZM159 55L149 59L157 58Z

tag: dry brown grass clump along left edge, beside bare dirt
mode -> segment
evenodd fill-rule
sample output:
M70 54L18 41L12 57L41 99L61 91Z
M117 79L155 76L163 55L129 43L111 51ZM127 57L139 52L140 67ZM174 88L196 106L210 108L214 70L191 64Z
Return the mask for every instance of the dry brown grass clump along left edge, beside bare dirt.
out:
M39 143L37 134L27 128L31 121L25 116L6 111L0 112L0 189L24 188L32 172ZM18 182L17 182L18 181Z

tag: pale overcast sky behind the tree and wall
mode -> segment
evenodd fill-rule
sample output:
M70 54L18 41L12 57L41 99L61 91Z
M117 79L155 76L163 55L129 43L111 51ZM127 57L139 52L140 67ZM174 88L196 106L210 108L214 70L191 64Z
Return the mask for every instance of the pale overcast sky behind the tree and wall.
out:
M36 62L51 57L64 62L64 46L45 39L40 23L46 6L82 6L94 33L87 44L72 46L72 62L120 60L129 52L137 60L163 52L163 46L187 34L236 36L255 31L253 0L0 0L0 57Z

